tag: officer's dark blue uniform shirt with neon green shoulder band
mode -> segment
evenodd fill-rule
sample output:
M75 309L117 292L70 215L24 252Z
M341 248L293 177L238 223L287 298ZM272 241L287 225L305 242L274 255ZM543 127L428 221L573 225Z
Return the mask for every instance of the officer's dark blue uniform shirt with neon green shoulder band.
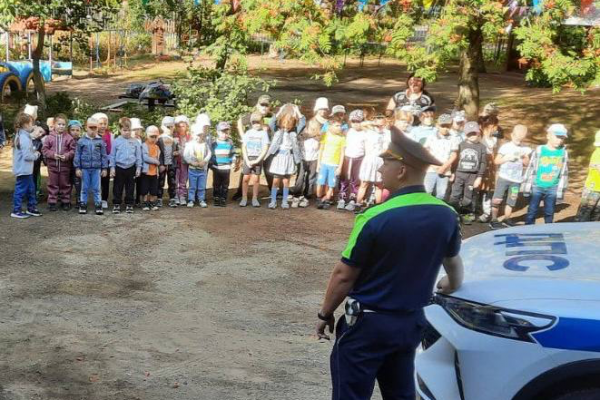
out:
M356 217L342 262L361 269L349 296L365 308L407 312L426 306L445 257L460 251L458 215L423 186L399 190Z

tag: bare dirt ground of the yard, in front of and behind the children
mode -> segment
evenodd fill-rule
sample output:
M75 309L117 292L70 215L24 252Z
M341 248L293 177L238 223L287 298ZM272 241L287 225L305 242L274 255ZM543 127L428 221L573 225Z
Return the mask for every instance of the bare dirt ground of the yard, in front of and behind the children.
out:
M127 82L172 76L184 66L57 82L50 90L69 89L106 104ZM395 64L373 62L324 89L290 63L263 73L277 77L275 96L282 101L327 95L350 107L382 106L406 76ZM442 108L450 106L453 79L445 76L430 87ZM545 89L527 89L518 75L488 75L483 95L510 110L507 125L531 121L537 132L532 142L540 140L546 117L581 107L582 115L570 121L582 132L578 141L587 146L593 140L588 130L597 124L598 91L555 98ZM544 107L533 114L536 104ZM575 163L587 157L584 147ZM575 184L581 175L574 173ZM331 343L311 334L352 215L229 206L103 217L56 212L19 221L9 217L13 182L5 149L0 400L330 397ZM571 219L577 201L575 189L557 219ZM485 229L466 227L465 236Z

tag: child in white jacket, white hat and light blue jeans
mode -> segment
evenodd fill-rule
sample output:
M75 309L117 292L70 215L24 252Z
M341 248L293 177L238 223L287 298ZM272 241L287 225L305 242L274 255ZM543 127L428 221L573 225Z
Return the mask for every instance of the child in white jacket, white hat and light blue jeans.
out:
M193 139L185 145L183 159L188 165L188 207L194 207L194 200L198 197L198 203L201 208L206 208L206 177L208 171L208 162L210 161L211 151L206 143L206 134L201 130L202 127L194 125L192 127Z

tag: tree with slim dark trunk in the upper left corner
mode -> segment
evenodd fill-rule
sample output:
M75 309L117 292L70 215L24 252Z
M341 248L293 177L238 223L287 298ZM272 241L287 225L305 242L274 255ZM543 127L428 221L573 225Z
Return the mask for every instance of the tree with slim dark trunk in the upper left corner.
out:
M0 0L0 27L9 31L10 24L23 22L37 31L33 51L33 79L38 101L46 108L46 89L40 73L40 59L46 35L55 29L94 32L101 28L103 17L116 12L117 0Z

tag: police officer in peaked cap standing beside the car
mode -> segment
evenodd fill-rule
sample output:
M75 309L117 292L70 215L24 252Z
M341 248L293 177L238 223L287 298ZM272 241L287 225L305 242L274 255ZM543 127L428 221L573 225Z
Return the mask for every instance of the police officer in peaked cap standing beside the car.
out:
M370 399L375 380L384 400L414 400L415 350L425 326L423 307L437 284L451 293L462 283L461 233L455 211L427 194L430 165L420 144L392 127L380 172L391 197L356 217L318 313L317 336L329 339L334 311L348 297L331 353L333 400Z

